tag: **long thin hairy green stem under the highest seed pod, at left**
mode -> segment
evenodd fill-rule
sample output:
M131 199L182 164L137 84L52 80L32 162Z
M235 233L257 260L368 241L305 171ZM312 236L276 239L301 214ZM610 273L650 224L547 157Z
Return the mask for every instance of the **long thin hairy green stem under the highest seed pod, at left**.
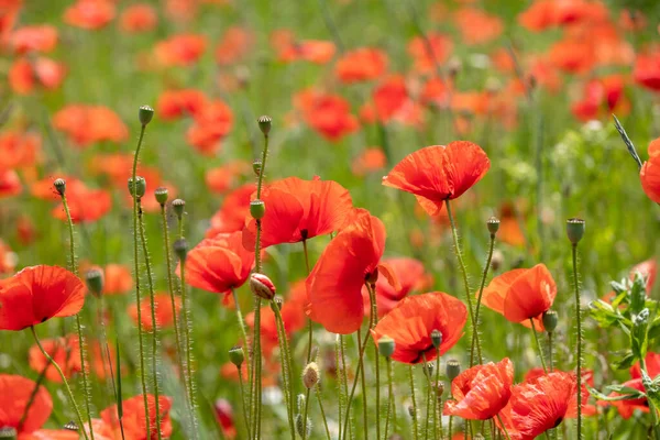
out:
M148 416L148 398L146 388L146 373L145 373L145 360L144 360L144 332L142 330L142 310L141 310L141 298L140 298L140 257L139 257L139 243L138 243L138 197L135 196L135 183L138 177L138 161L140 158L140 148L142 147L142 141L144 140L144 131L146 124L142 124L140 129L140 138L138 139L138 147L135 148L135 155L133 156L133 170L132 170L132 185L131 194L133 195L133 272L135 276L135 305L138 306L138 340L140 348L140 381L142 384L142 398L144 402L144 418L146 432L151 432L151 418Z

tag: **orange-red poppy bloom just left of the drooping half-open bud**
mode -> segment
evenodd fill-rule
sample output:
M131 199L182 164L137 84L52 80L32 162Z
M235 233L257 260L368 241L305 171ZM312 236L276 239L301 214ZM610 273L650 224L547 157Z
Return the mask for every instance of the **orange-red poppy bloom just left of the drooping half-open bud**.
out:
M241 287L254 266L254 252L242 243L242 233L219 233L202 240L188 252L186 282L216 294Z

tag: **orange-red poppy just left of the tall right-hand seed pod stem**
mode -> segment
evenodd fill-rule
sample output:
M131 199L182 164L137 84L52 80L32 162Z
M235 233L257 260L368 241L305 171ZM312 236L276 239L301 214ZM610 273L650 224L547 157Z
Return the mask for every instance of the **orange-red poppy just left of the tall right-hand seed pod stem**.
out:
M476 293L479 295L479 293ZM543 264L532 268L515 268L493 278L484 289L482 302L512 322L543 331L542 316L552 307L557 285Z

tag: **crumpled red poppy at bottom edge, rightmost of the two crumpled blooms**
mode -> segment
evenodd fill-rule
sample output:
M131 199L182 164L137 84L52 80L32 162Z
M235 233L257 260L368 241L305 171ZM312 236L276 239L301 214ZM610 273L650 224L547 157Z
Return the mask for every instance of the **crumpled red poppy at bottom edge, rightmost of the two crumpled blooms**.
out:
M573 373L549 373L515 385L499 416L512 439L532 440L566 418L576 392ZM499 421L496 422L499 427Z

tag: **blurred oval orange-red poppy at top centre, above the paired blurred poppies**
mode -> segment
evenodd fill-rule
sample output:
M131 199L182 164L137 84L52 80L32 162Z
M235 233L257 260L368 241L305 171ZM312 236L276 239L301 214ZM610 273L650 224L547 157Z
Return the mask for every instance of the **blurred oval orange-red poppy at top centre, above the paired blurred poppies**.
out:
M337 61L334 75L345 84L369 81L387 69L387 54L381 50L362 47L346 52Z

